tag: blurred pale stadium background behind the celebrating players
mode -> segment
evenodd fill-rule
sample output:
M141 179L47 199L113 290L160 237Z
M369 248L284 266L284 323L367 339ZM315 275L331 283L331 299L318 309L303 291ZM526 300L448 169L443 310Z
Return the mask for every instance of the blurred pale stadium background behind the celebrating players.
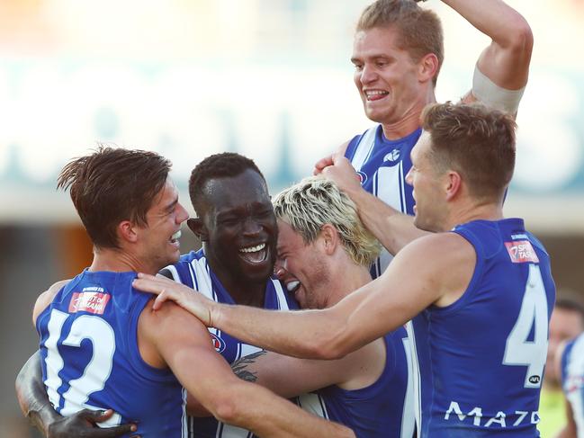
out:
M0 0L0 437L36 436L13 380L37 348L34 300L90 263L60 168L98 143L156 150L186 182L204 156L256 160L271 191L372 125L349 62L366 0ZM526 218L561 293L584 293L584 0L509 1L535 34L507 216ZM339 6L339 4L341 4ZM489 40L437 0L438 100ZM186 231L184 251L196 245Z

